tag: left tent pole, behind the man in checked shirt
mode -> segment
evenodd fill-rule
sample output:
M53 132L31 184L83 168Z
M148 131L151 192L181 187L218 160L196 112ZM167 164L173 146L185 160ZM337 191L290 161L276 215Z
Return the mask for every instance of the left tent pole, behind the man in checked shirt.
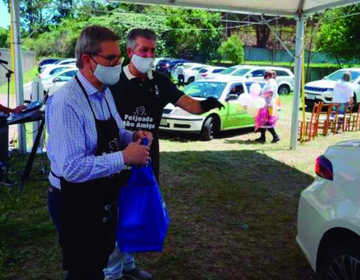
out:
M15 92L16 106L24 104L23 79L22 79L22 56L21 56L21 36L20 36L20 11L19 0L11 0L11 27L13 31L13 46L15 50ZM26 152L26 139L24 126L18 125L19 153Z

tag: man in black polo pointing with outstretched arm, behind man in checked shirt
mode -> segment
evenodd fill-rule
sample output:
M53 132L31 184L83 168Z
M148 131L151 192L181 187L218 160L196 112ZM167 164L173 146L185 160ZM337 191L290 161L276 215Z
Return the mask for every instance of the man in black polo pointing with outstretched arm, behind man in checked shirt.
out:
M159 180L158 129L164 107L172 103L192 114L201 114L224 106L214 97L199 101L185 95L163 74L151 70L155 59L157 36L151 29L135 28L129 31L126 52L130 64L124 67L120 81L112 86L118 112L127 129L146 129L153 133L150 149L155 177ZM146 271L135 266L132 254L120 253L117 247L104 270L107 280L123 276L133 279L152 279Z

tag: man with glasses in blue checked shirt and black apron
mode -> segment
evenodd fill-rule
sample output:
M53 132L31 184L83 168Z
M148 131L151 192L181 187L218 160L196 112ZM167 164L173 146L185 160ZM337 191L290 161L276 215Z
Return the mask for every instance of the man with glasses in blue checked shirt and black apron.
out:
M67 280L104 280L115 246L119 187L128 165L149 159L149 146L140 142L151 142L152 134L125 130L108 88L121 72L119 39L106 27L85 28L76 45L77 75L46 105L48 207Z

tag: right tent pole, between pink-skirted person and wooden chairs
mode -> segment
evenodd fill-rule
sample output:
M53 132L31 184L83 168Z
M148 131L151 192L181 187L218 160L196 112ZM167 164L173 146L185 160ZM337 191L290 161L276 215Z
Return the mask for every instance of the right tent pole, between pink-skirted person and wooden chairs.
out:
M294 98L291 122L290 149L296 150L298 145L298 122L299 106L301 95L301 64L303 63L305 17L299 14L296 18L296 46L295 46L295 67L294 67Z

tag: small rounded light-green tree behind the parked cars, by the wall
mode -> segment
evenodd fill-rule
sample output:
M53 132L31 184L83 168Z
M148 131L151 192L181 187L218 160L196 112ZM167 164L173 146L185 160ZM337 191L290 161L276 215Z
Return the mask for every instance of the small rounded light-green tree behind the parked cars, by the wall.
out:
M238 35L233 34L221 44L218 53L223 60L231 60L233 63L242 64L244 62L244 43Z

